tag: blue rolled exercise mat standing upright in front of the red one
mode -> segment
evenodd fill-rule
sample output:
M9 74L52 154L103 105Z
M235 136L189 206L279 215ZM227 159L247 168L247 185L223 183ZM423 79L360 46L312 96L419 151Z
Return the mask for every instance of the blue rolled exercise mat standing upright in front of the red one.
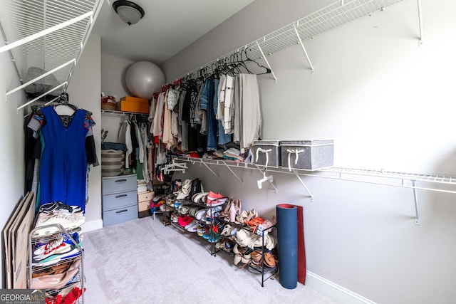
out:
M284 288L294 289L298 285L297 208L291 204L278 204L276 214L279 281Z

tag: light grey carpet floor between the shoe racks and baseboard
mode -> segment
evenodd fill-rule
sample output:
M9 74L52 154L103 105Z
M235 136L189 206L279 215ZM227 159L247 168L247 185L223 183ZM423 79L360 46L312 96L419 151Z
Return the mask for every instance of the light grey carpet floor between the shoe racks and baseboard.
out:
M209 243L152 217L83 234L85 303L306 303L333 304L279 276L261 287L261 275L239 268Z

